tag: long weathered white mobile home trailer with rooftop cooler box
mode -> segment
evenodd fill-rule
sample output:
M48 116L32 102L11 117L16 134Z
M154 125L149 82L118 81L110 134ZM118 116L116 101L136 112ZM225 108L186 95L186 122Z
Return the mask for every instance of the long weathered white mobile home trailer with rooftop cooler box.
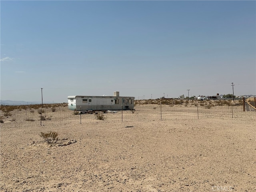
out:
M77 111L89 110L132 110L134 97L119 96L68 96L68 109Z

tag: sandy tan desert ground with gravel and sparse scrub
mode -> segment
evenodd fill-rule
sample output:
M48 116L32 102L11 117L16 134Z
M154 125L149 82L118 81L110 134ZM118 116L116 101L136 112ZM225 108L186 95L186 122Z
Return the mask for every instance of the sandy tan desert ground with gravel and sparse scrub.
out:
M256 112L174 107L160 117L159 106L138 105L105 120L67 107L46 109L43 121L36 109L1 111L0 191L256 191ZM50 131L58 142L40 137Z

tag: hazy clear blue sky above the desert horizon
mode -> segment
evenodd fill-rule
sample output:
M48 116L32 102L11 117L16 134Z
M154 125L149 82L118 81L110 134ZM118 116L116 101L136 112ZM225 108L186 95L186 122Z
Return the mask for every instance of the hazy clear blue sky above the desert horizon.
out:
M256 1L2 1L1 100L256 94Z

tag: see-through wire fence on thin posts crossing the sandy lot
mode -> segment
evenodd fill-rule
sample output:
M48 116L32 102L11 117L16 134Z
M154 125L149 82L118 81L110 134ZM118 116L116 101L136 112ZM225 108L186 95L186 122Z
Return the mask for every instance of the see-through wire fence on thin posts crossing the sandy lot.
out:
M42 114L39 114L42 110ZM243 112L243 106L200 106L200 104L165 105L165 104L145 104L134 107L134 110L118 110L116 112L90 112L75 115L74 111L67 106L59 106L53 111L51 107L41 109L16 109L11 112L1 111L1 120L4 123L16 122L19 124L29 124L38 122L40 125L65 125L73 122L85 124L92 122L137 122L137 121L157 121L176 119L207 119L207 118L256 118L255 111ZM102 118L98 118L98 116ZM2 118L4 117L4 118ZM101 119L101 120L100 120ZM104 119L104 121L102 121Z

